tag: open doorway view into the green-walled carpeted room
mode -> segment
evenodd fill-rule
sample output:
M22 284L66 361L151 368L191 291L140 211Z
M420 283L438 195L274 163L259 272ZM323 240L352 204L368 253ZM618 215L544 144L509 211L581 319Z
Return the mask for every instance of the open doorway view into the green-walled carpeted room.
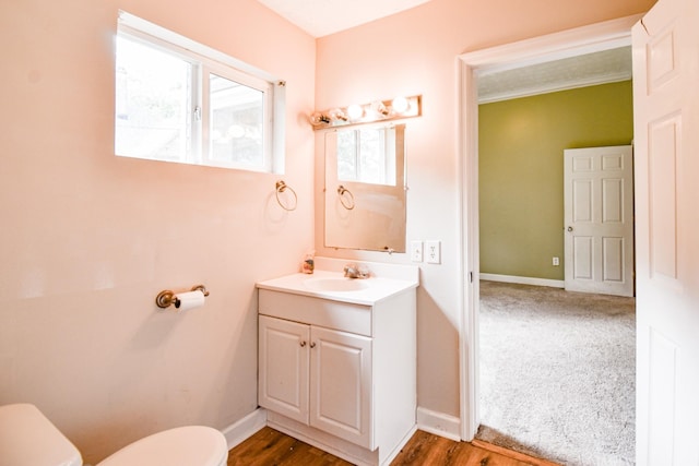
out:
M619 56L618 63L608 60L611 53ZM632 264L619 264L625 253L632 258L632 249L621 248L632 239L620 235L632 222L624 215L632 211L631 154L630 146L619 145L633 134L630 48L566 59L547 69L566 74L562 70L580 68L571 61L600 71L606 71L600 63L624 65L625 81L605 83L604 73L595 76L601 82L594 86L559 89L568 84L561 81L558 92L479 105L476 439L562 464L609 458L627 464L635 455L633 301L567 292L560 286L564 266L570 265L581 285L593 284L597 294L626 285L620 272L628 271L632 280ZM532 71L505 74L521 75L525 83ZM490 79L478 87L487 87ZM587 147L606 144L612 146ZM576 200L572 213L564 199ZM566 212L576 222L565 222ZM577 256L569 261L564 243L573 235ZM553 263L559 256L565 259Z

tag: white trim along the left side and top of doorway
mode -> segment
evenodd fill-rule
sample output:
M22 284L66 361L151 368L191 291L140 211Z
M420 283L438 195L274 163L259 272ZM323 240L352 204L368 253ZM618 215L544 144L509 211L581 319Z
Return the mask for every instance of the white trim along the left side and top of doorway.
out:
M471 441L478 415L478 95L477 72L513 69L631 44L631 26L642 14L463 53L458 57L459 127L459 401L461 439Z

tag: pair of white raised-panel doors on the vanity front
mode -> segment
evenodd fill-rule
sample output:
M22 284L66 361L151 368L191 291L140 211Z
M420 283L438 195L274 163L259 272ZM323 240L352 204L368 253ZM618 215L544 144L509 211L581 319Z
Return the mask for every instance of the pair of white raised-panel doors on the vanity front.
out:
M371 447L371 338L260 315L260 406Z

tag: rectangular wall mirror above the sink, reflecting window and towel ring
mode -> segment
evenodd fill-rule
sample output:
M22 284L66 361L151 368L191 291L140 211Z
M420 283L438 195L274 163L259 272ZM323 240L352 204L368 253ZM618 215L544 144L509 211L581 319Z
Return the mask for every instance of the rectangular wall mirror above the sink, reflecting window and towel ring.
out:
M405 252L405 124L325 133L328 248Z

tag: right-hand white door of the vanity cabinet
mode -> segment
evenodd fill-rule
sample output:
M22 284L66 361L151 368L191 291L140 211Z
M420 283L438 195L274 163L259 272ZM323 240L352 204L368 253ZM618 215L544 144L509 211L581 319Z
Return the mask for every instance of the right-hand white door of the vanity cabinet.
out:
M371 338L311 326L310 425L374 450Z

